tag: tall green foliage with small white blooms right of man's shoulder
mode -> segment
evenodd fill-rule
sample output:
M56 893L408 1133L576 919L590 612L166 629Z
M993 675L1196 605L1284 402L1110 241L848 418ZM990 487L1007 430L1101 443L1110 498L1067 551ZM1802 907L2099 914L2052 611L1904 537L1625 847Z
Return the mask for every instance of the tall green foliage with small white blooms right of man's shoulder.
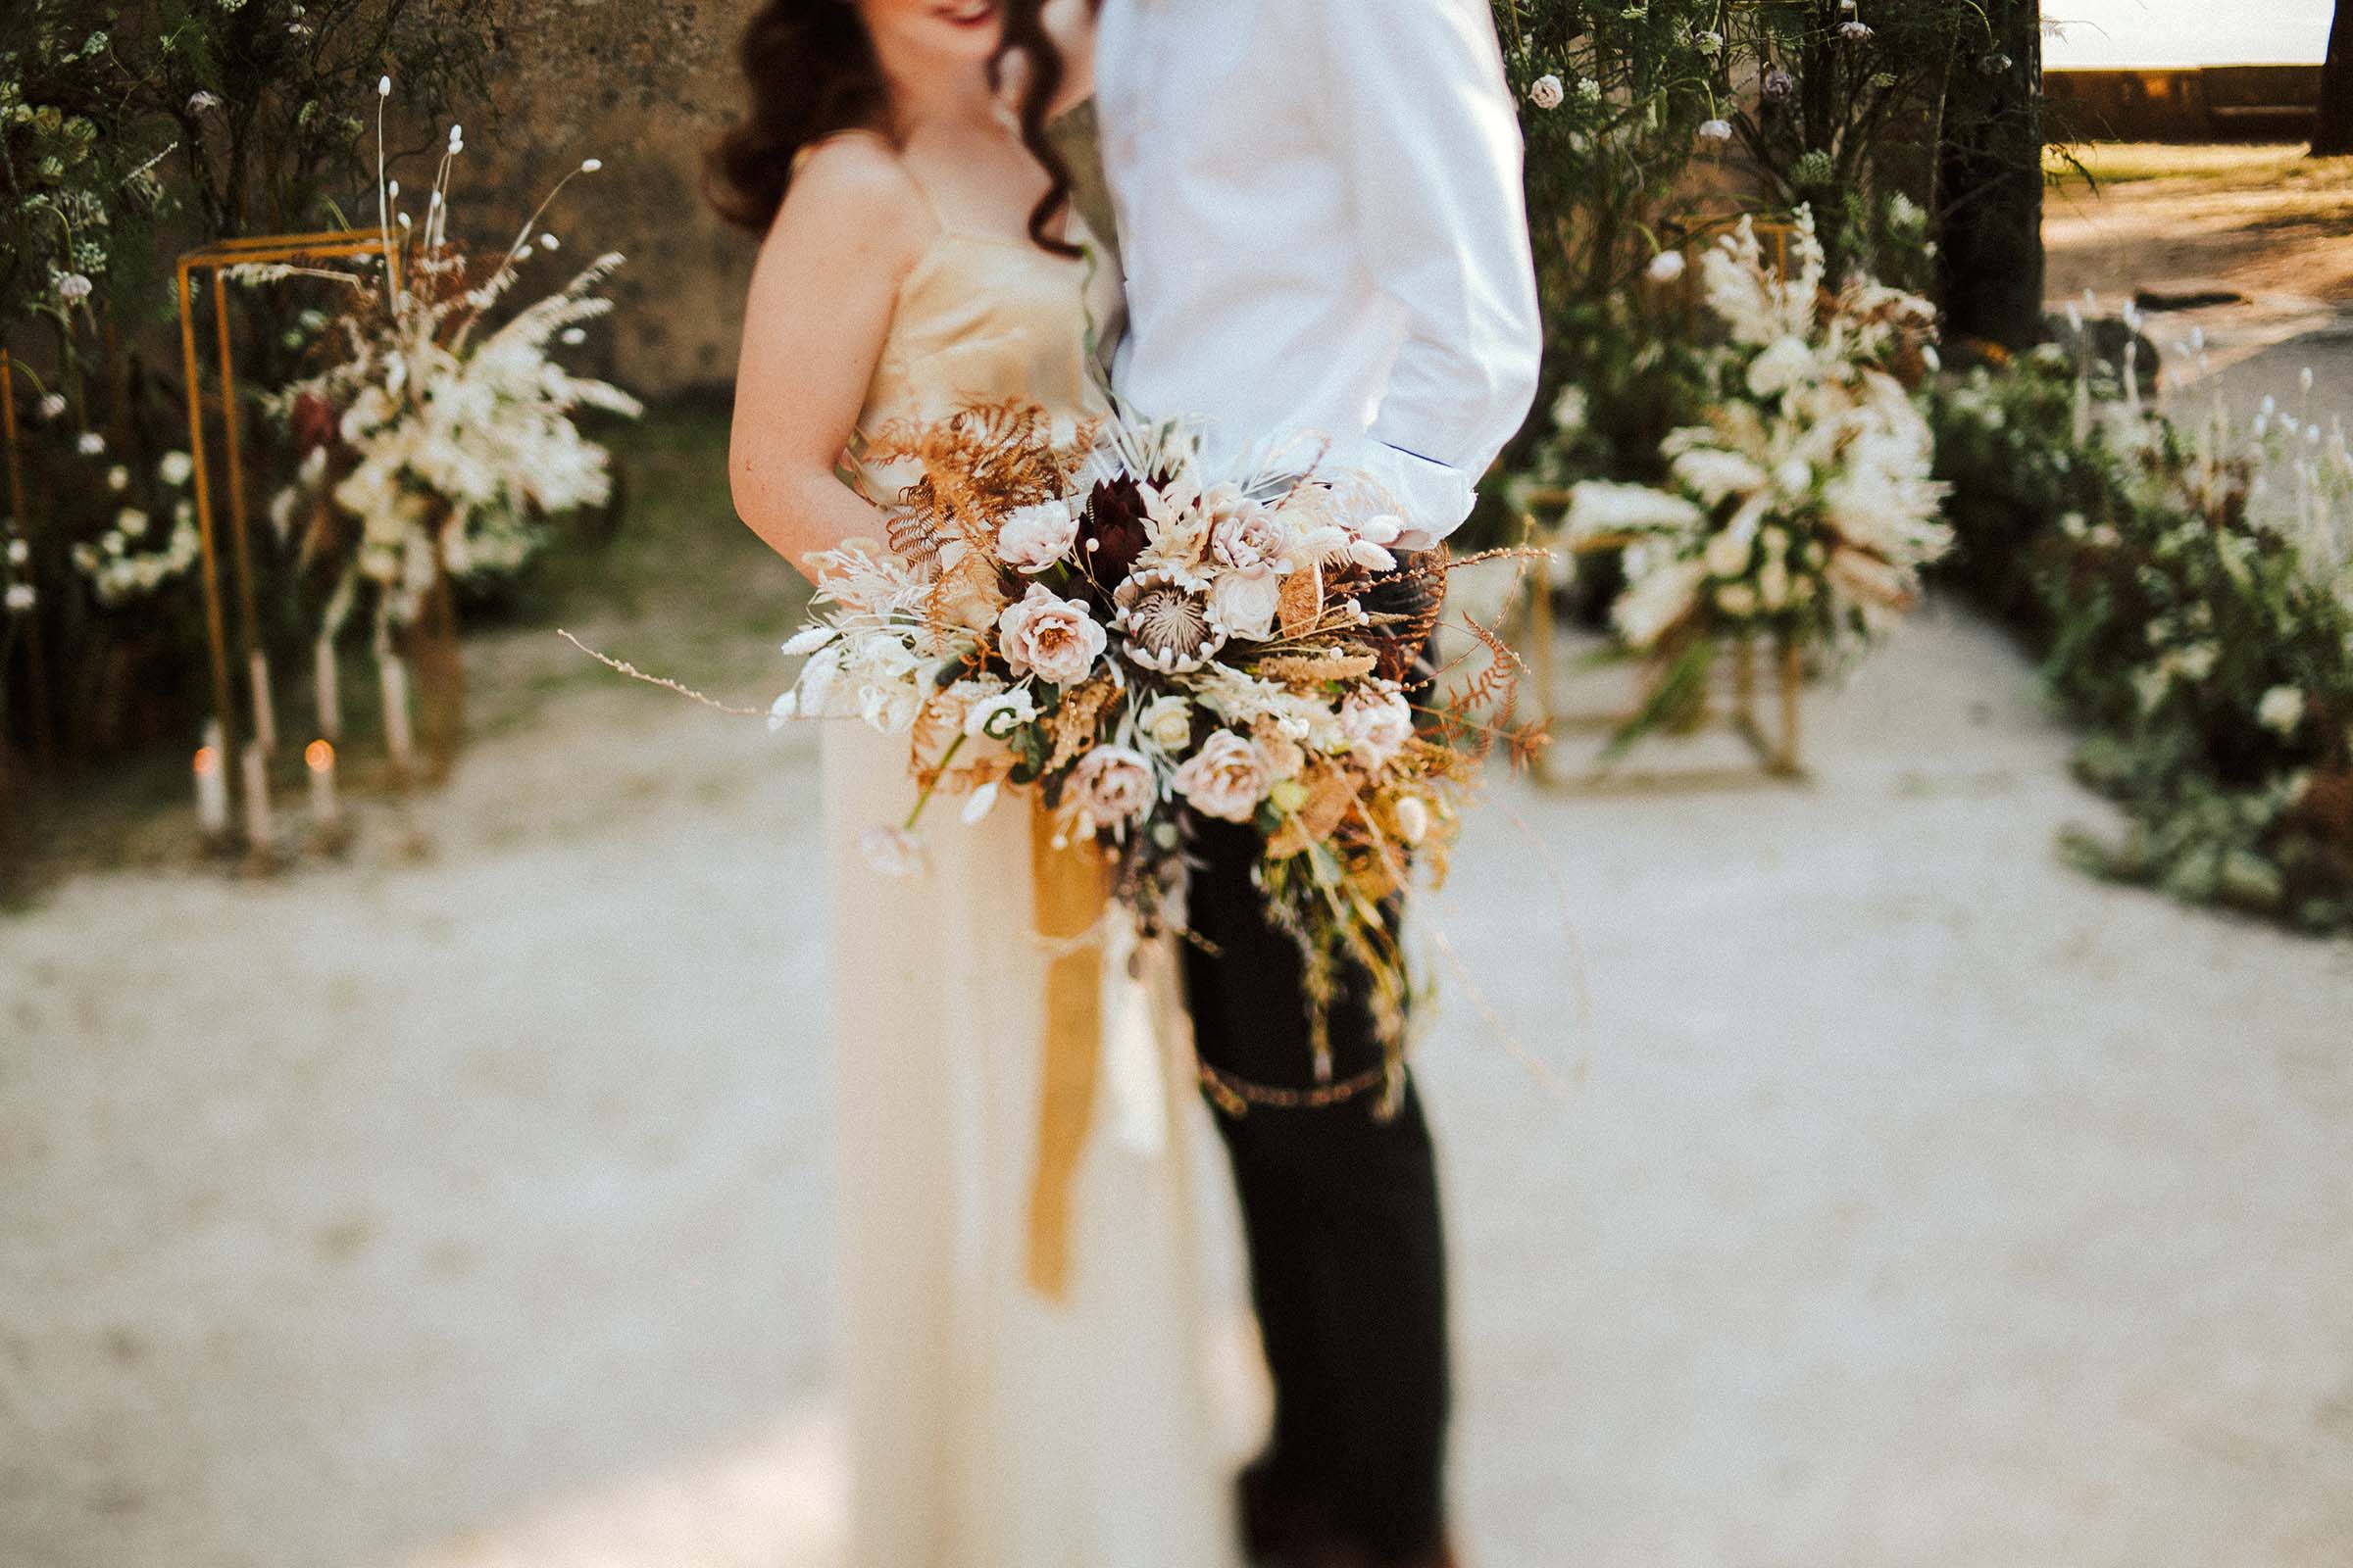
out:
M1659 440L1704 414L1687 294L1642 282L1744 212L1812 205L1831 282L1918 289L1932 256L1937 106L1991 38L1974 5L1878 0L1494 0L1527 141L1546 317L1520 477L1652 482ZM1562 390L1577 388L1567 402Z

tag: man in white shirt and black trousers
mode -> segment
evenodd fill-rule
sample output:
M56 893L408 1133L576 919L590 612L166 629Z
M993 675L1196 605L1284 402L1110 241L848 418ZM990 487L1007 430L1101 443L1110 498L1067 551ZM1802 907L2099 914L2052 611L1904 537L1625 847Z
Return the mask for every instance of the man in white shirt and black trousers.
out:
M1209 421L1212 465L1297 433L1372 475L1426 548L1537 390L1520 127L1487 0L1104 0L1096 115L1127 270L1118 390ZM1188 954L1202 1063L1308 1088L1301 964L1202 823ZM1381 1063L1355 994L1332 1081ZM1447 1324L1419 1095L1219 1117L1275 1427L1242 1528L1287 1568L1442 1568Z

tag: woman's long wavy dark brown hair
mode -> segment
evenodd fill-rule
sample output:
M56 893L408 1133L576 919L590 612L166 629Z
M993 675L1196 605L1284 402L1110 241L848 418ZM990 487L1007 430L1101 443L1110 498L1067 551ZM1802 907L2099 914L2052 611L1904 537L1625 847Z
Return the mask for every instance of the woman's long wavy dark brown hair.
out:
M1009 56L1028 63L1021 146L1047 172L1028 233L1040 247L1075 256L1075 244L1049 233L1071 202L1071 165L1045 129L1066 71L1042 9L1045 0L1005 0L1005 42L988 73L998 80ZM767 0L744 24L736 59L751 108L704 153L704 197L729 223L767 233L793 183L793 155L835 132L880 127L889 85L852 0Z

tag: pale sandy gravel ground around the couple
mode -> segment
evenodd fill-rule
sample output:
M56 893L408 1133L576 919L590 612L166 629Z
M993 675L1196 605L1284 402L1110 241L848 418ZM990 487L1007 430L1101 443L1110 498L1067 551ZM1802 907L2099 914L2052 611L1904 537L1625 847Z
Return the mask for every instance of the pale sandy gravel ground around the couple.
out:
M1508 783L1426 905L1548 1072L1452 987L1473 1561L2348 1561L2353 950L2061 867L1967 618L1809 722L1807 788ZM431 858L0 924L0 1561L833 1561L812 811L591 689Z

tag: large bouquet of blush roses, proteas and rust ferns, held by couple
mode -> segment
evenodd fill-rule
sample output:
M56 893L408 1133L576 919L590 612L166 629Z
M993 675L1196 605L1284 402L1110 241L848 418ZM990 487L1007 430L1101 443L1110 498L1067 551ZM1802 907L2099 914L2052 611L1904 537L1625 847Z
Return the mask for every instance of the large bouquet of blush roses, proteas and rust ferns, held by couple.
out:
M868 858L920 872L936 792L979 820L1031 790L1056 846L1099 846L1111 907L1151 933L1179 919L1188 813L1245 823L1318 1041L1353 961L1398 1051L1407 973L1384 905L1417 867L1442 875L1511 708L1511 656L1487 637L1497 663L1449 698L1417 675L1449 562L1400 562L1405 524L1344 477L1214 482L1181 423L1073 433L974 404L882 430L861 461L915 477L889 548L809 557L819 618L784 649L807 665L772 724L906 736L918 804L866 832Z

